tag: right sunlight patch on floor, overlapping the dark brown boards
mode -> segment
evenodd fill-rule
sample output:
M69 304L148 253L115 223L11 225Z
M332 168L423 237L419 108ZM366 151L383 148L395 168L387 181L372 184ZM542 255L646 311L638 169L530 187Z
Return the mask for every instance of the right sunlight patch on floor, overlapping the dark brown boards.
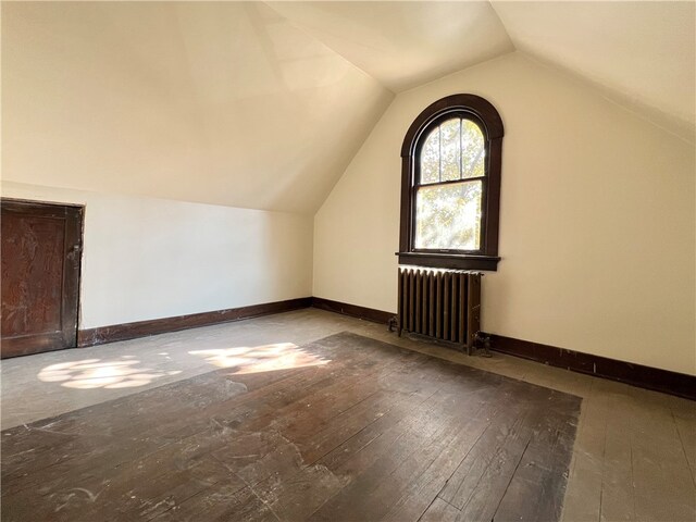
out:
M202 356L206 361L217 366L235 371L231 375L271 372L294 368L320 366L331 360L322 359L299 348L293 343L276 343L257 347L240 346L210 350L192 350L192 356Z

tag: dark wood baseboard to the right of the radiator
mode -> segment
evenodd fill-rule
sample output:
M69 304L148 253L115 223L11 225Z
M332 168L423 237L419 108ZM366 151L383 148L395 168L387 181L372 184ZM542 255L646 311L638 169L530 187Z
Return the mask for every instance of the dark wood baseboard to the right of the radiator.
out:
M492 335L490 345L493 350L501 353L696 400L696 376L694 375L566 350L502 335Z

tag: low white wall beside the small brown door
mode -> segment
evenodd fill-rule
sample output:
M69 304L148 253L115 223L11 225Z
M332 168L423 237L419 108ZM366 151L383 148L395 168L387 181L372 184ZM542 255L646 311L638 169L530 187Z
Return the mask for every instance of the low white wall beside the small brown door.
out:
M80 328L311 296L312 219L2 183L85 206Z

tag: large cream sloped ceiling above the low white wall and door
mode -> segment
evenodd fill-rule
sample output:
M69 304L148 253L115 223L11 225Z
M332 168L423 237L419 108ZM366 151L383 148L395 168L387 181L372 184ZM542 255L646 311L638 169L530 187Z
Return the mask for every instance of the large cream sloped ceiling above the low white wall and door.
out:
M263 3L2 3L3 179L313 214L394 95Z

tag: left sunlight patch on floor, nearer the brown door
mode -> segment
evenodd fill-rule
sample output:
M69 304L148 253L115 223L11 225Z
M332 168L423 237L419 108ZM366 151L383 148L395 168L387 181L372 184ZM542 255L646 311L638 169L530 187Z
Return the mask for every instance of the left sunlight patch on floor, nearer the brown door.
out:
M157 378L182 373L181 370L152 371L139 365L135 356L123 356L117 360L84 359L61 362L44 368L39 381L61 383L66 388L133 388L145 386Z

